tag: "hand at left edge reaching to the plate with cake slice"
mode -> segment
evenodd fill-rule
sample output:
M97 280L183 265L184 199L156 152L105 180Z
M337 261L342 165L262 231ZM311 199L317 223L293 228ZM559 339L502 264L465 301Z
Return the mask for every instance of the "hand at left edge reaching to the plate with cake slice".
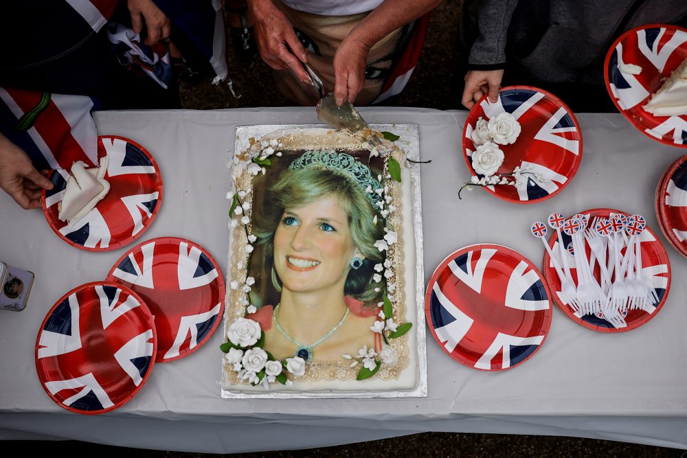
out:
M0 134L0 188L22 208L32 209L41 207L41 190L52 187L27 154Z

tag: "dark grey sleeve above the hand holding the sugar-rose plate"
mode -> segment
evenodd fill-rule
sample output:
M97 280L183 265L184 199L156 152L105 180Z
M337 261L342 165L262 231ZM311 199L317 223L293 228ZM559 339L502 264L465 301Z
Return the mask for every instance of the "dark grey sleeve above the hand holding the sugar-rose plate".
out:
M470 49L468 64L473 68L502 68L506 63L508 26L518 0L482 0L477 10L480 34Z

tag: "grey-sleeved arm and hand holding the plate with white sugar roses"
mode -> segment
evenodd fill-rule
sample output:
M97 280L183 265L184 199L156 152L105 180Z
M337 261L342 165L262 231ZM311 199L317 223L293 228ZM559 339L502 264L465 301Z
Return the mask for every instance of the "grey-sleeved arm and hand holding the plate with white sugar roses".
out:
M517 0L483 0L477 12L480 34L471 46L462 104L472 108L482 95L496 102L506 66L506 38Z

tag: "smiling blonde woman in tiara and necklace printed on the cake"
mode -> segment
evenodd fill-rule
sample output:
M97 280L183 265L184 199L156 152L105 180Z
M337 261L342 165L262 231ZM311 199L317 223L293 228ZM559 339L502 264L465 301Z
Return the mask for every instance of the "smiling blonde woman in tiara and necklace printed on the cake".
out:
M260 308L248 316L264 350L322 362L374 347L382 298L373 266L384 260L374 243L384 232L379 196L365 189L381 184L368 165L331 151L305 152L268 178L253 226Z

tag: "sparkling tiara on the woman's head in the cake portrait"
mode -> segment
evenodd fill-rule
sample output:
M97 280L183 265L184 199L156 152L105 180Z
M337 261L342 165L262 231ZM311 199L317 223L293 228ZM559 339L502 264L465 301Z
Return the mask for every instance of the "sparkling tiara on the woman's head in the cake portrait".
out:
M289 165L290 170L310 167L326 168L353 179L363 188L373 207L382 200L381 195L374 192L382 185L372 177L369 167L356 161L350 154L335 151L306 151Z

